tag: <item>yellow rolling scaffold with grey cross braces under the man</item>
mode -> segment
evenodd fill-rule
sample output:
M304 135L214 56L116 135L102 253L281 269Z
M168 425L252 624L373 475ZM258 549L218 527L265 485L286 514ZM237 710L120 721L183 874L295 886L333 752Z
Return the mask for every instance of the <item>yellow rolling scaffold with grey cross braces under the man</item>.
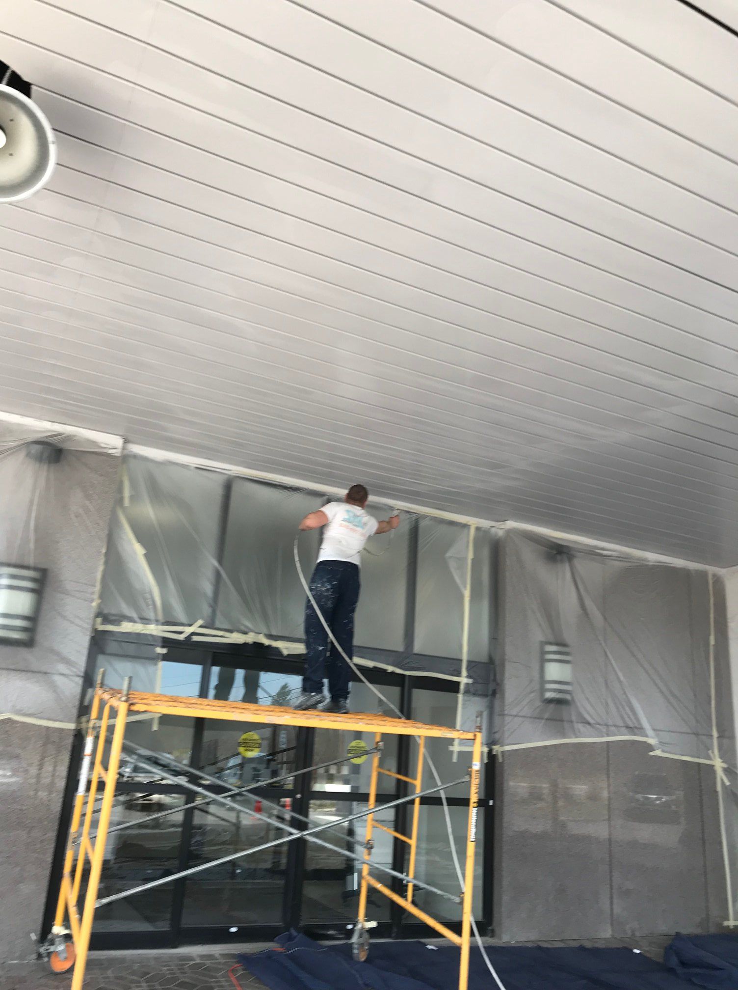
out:
M102 714L101 714L102 713ZM279 708L276 706L252 705L242 702L215 701L207 698L182 698L161 694L143 694L130 690L130 682L124 685L123 690L105 688L102 683L102 671L98 677L98 683L92 698L90 710L89 728L85 740L82 765L79 773L79 783L77 786L72 818L69 828L69 839L64 857L63 872L59 887L58 901L54 925L51 936L46 943L47 954L51 968L58 972L74 967L71 990L82 990L87 962L87 953L90 944L90 935L95 917L95 910L101 904L109 903L131 896L161 883L171 883L177 877L188 875L206 869L213 865L213 862L201 864L199 866L183 870L161 880L155 880L144 884L136 890L130 890L121 894L113 895L110 898L98 900L98 888L103 869L105 856L105 846L108 840L108 830L110 828L111 812L118 783L118 771L120 767L121 755L124 745L131 747L132 743L125 743L126 725L131 713L148 713L152 715L173 715L185 718L196 719L219 719L230 722L255 722L267 725L311 727L316 729L338 729L351 730L352 732L367 732L374 734L374 748L372 752L371 782L369 786L369 801L366 811L348 816L346 819L329 826L318 826L309 830L293 829L285 824L278 824L281 829L289 835L282 839L271 841L270 845L280 842L292 841L294 839L307 839L308 841L318 841L323 845L328 843L315 838L315 834L326 829L334 828L347 821L358 818L366 818L366 832L364 837L363 857L355 857L350 853L343 852L349 858L361 858L361 886L359 890L358 917L354 925L353 947L357 958L366 958L369 947L368 929L371 923L366 919L367 894L369 887L384 894L396 904L401 905L410 914L415 915L439 935L450 940L461 949L459 963L459 990L467 990L469 977L469 946L472 920L472 895L474 889L474 851L477 839L477 810L479 802L479 782L482 759L482 734L479 726L475 732L462 732L456 729L447 729L442 726L429 726L420 722L390 718L386 715L371 715L361 713L351 713L347 715L336 715L317 710L296 711L290 708ZM112 731L112 738L111 738ZM380 765L382 754L383 736L414 736L417 740L417 761L415 776L407 777L396 773ZM415 862L417 850L418 817L420 808L420 798L429 793L443 790L452 784L439 784L422 790L423 757L426 739L447 739L452 741L466 740L472 743L472 764L468 776L469 780L469 813L467 822L466 837L466 857L464 871L464 889L459 896L449 895L444 891L439 891L429 884L415 878ZM106 746L110 744L107 766L103 763ZM138 748L140 753L148 753L147 750ZM148 753L151 757L166 759L169 764L176 761L171 757L160 756L160 754ZM142 766L146 765L145 758L139 758ZM332 762L339 762L333 760ZM149 769L151 763L147 764ZM181 764L177 764L181 766ZM327 765L327 764L326 764ZM154 767L157 768L157 767ZM208 775L194 767L184 767L191 770L201 778ZM313 767L309 769L314 769ZM295 771L297 775L300 771ZM304 771L308 772L308 771ZM377 806L377 782L380 774L399 779L410 785L413 790L406 797L387 802ZM292 774L291 774L292 775ZM214 780L215 778L210 778ZM466 778L463 778L466 779ZM101 781L104 783L102 791L102 804L99 809L95 808L98 798ZM454 781L453 783L458 783ZM221 801L229 804L228 796L219 796L195 785L191 789L200 795L206 795L208 800ZM233 790L232 794L244 793L252 788L240 788ZM411 833L409 836L401 835L376 821L376 813L386 808L396 807L404 802L413 802L413 820ZM242 811L242 807L240 808ZM163 813L163 814L166 814ZM98 816L97 825L93 832L93 819ZM263 817L263 816L257 816ZM304 820L307 821L307 820ZM310 823L309 823L310 824ZM389 833L393 838L403 841L410 847L408 872L399 874L386 866L372 864L373 841L372 834L375 829L380 829ZM81 831L80 831L81 830ZM261 847L261 846L259 846ZM335 846L328 845L335 849ZM240 858L248 855L255 849L244 849L240 852L231 853L225 859ZM224 861L223 859L217 860ZM80 890L85 874L86 866L89 867L87 875L87 887L84 897L84 905L80 915L78 902ZM407 885L407 893L403 897L396 891L391 890L372 875L371 869L380 869L394 876L399 876ZM451 900L460 902L462 906L461 934L452 932L446 925L432 918L422 911L414 903L414 889L424 888L433 891ZM67 922L68 924L65 924Z

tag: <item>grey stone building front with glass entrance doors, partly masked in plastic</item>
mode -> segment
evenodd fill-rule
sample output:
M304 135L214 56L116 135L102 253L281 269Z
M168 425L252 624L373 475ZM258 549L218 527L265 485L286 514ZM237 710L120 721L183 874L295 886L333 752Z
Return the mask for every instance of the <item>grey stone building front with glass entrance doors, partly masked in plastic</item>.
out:
M29 933L45 934L50 925L79 756L77 736L46 723L68 726L83 716L85 688L101 668L111 686L131 676L139 690L289 703L302 672L295 532L330 496L101 451L65 450L59 463L44 465L43 484L37 478L24 487L24 446L12 456L4 487L15 493L18 514L8 533L26 536L12 552L6 541L6 559L23 562L25 554L49 574L36 645L0 647L10 714L45 722L10 721L2 731L3 779L8 794L18 795L0 808L0 828L14 837L2 878L22 889L2 948L22 958L32 951ZM355 648L369 683L354 678L352 705L389 711L391 704L421 721L464 728L481 713L489 746L475 887L481 928L505 940L719 930L733 820L724 814L721 829L709 755L715 735L723 761L734 765L719 577L415 513L375 544L362 566ZM316 548L314 536L298 544L306 572ZM547 665L552 656L555 670ZM367 764L344 761L356 742L350 735L162 716L132 724L130 738L207 768L224 784L261 785L261 798L285 819L296 812L329 823L367 799ZM393 745L385 758L405 773L411 743ZM440 743L431 749L442 779L458 777L468 762ZM282 779L333 758L308 786L302 776ZM270 784L275 777L280 782ZM387 797L401 786L389 786ZM459 846L463 791L449 792ZM119 792L114 824L126 829L106 851L105 893L271 835L247 812L183 808L144 821L189 799L184 788L133 765L124 768ZM402 833L405 814L388 813L385 824ZM455 889L438 798L423 799L419 830L417 876ZM378 861L402 869L402 843L382 836ZM342 841L353 848L355 836L344 830ZM729 852L732 863L732 842ZM96 918L93 944L239 943L288 927L340 938L356 891L347 860L292 842L108 905ZM427 893L418 901L449 924L458 921L449 902ZM421 934L384 899L375 918L380 935Z

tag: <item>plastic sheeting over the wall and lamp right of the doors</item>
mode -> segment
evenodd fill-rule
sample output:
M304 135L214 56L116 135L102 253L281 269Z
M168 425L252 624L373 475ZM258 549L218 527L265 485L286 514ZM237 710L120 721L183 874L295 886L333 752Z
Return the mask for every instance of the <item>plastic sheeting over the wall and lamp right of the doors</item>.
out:
M505 545L499 743L634 738L712 763L710 616L718 579L703 568L523 533L508 532ZM550 645L570 651L568 699L546 700ZM732 739L730 715L729 705L718 706L720 738Z

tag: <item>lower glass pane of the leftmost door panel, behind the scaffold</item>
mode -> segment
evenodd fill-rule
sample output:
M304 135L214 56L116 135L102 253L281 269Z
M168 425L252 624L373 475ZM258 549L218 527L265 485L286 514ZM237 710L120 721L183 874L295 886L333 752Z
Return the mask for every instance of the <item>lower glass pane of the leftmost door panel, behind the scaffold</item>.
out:
M99 897L109 897L139 884L169 876L178 869L182 814L152 822L138 820L183 804L180 795L121 794L113 806L112 832L105 846ZM94 828L94 825L93 825ZM170 924L173 884L163 884L133 897L114 901L95 912L96 932L130 932L167 929ZM83 903L83 898L80 899Z

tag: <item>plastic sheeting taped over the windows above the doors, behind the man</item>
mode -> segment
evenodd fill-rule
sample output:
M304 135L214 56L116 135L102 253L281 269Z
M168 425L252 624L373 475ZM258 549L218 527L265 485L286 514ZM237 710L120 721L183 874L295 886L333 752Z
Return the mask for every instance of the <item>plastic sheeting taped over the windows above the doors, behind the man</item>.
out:
M293 543L301 519L331 497L126 456L99 628L302 653L305 594ZM392 511L367 508L378 518ZM406 512L397 531L369 541L356 620L360 662L468 676L488 690L493 539L478 530L470 542L469 534L468 526ZM319 541L317 533L300 537L306 573Z

